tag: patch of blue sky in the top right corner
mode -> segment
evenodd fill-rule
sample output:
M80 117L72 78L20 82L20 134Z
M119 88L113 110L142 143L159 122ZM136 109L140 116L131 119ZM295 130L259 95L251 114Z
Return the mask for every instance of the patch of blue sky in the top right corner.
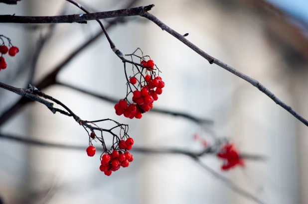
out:
M308 0L267 0L291 15L308 22Z

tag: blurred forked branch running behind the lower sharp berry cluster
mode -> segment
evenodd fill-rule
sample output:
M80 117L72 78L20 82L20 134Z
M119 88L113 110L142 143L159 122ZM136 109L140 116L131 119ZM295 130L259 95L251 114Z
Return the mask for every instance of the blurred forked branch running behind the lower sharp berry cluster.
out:
M11 134L2 134L0 133L0 139L7 139L11 141L16 141L20 142L23 144L28 144L28 145L36 145L36 146L42 146L42 147L48 147L48 148L60 148L60 149L67 149L67 150L81 150L85 151L87 147L85 146L78 146L78 145L70 145L70 144L59 144L59 143L49 143L49 142L43 142L37 139L30 139L29 137L20 137L20 136L15 136ZM97 151L104 151L103 148L98 147L96 148ZM234 192L251 199L255 201L258 204L264 204L262 201L260 201L258 198L250 194L249 192L246 192L244 189L241 189L240 187L236 186L234 182L231 180L223 177L219 173L215 172L213 169L209 168L207 165L203 164L200 161L200 157L206 155L206 154L216 154L215 148L212 147L207 147L203 151L200 152L192 152L192 151L187 151L183 149L176 149L176 148L147 148L147 147L136 147L131 150L131 152L136 152L136 153L143 153L143 154L179 154L179 155L185 155L190 158L192 158L195 162L197 162L203 169L211 173L215 178L221 180L227 186L233 190ZM243 155L249 155L249 154L243 154ZM243 155L241 154L241 157L243 158ZM253 155L255 160L264 160L264 156L261 155ZM250 157L250 158L253 158ZM256 159L259 158L259 159ZM249 159L249 158L247 158Z

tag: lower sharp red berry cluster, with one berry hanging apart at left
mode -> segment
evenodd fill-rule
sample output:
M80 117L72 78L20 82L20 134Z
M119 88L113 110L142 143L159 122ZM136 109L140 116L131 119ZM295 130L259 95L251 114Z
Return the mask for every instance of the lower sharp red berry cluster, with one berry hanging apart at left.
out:
M110 176L113 171L118 171L120 167L128 167L130 162L134 160L134 156L127 150L131 150L133 144L134 139L131 137L127 140L120 140L118 149L114 149L111 153L103 154L101 157L100 170L104 172L105 175ZM89 157L93 157L96 149L94 146L90 145L86 151Z

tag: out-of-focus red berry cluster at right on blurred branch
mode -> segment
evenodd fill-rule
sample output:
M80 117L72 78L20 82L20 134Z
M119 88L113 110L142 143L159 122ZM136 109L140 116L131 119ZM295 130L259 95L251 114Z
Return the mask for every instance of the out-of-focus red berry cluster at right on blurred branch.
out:
M244 167L245 162L240 157L238 150L234 147L233 143L224 144L217 154L217 157L224 160L223 165L221 166L221 170L227 171L235 166L239 165Z

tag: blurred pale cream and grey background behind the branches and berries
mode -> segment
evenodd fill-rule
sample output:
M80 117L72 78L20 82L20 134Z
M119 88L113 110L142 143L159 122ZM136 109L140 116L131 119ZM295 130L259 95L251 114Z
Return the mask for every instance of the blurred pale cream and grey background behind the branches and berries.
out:
M308 118L308 2L305 0L79 0L90 11L155 4L150 11L213 57L258 80ZM1 14L83 13L65 0L21 0L0 4ZM201 151L194 134L209 142L228 138L241 152L267 156L245 168L220 170L206 155L202 163L266 204L308 204L308 128L256 88L205 59L153 22L139 17L103 23L118 49L140 47L161 70L163 94L154 107L213 120L196 124L182 117L148 112L143 118L117 116L114 104L51 85L42 91L86 120L112 118L129 124L139 147ZM56 81L115 99L126 96L123 63L103 35L87 24L0 24L20 52L6 57L0 82L26 88L62 66ZM70 59L65 61L66 59ZM35 68L35 69L34 69ZM35 70L33 79L32 74ZM42 104L27 103L3 113L20 99L0 90L0 133L50 143L88 145L82 127ZM3 119L4 118L4 119ZM104 127L104 123L101 123ZM0 137L1 138L1 137ZM98 145L99 144L94 144ZM133 150L132 150L133 151ZM0 140L0 200L3 204L255 204L191 158L134 153L129 168L110 177L99 170L99 154ZM0 203L1 203L0 201Z

